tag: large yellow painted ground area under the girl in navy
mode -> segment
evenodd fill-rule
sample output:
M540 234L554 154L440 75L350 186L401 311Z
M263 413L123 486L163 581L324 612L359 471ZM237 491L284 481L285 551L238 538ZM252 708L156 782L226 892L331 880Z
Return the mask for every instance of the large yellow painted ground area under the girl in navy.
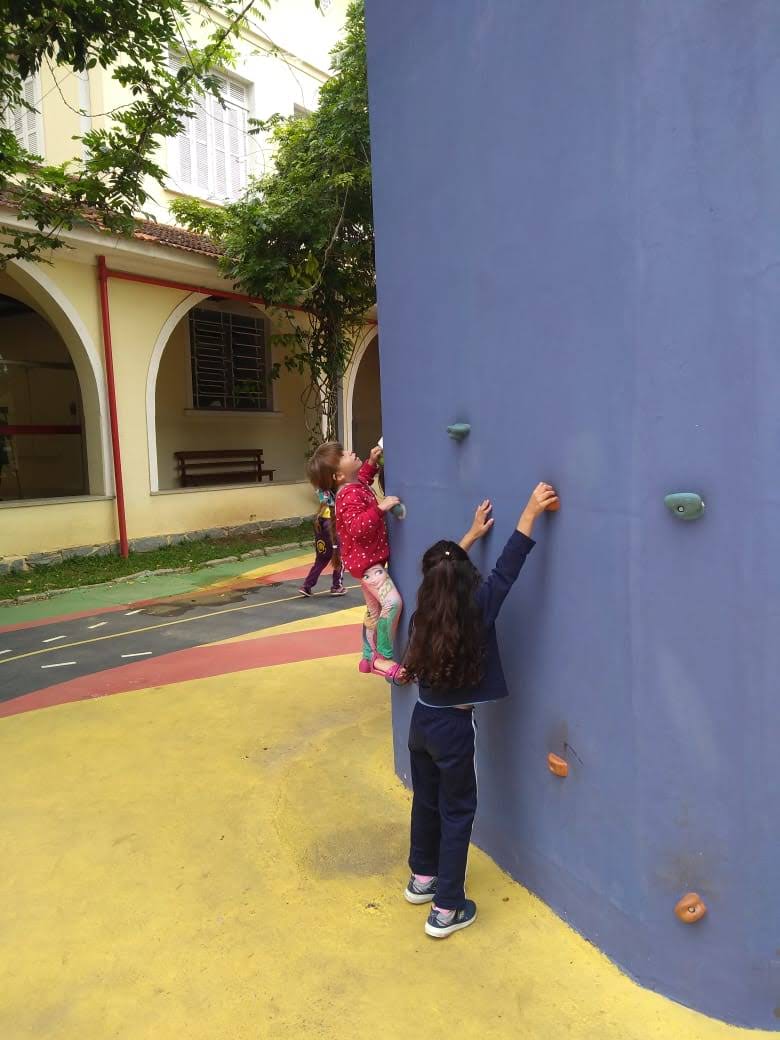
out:
M355 657L0 724L2 1040L775 1038L640 989L486 856L401 896L409 799Z

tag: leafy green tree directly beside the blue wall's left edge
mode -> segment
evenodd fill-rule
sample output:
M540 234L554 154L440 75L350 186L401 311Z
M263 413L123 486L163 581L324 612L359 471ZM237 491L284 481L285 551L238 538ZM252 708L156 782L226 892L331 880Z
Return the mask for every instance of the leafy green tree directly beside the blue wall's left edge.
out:
M277 341L286 368L307 375L304 404L316 442L322 433L336 436L339 383L375 300L363 0L347 9L316 111L275 116L255 126L261 130L271 133L272 173L224 210L192 200L174 209L191 230L222 242L222 269L238 288L287 315L289 332ZM310 313L296 321L287 308L302 304Z

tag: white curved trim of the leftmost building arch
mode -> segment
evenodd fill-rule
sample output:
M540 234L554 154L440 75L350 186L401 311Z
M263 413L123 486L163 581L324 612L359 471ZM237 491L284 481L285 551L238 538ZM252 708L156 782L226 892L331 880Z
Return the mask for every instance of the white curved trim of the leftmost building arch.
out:
M81 316L59 286L42 270L41 264L14 260L8 264L12 281L31 296L41 313L64 340L81 388L84 407L84 443L90 494L113 494L111 434L108 397L101 353ZM97 426L99 438L89 436Z

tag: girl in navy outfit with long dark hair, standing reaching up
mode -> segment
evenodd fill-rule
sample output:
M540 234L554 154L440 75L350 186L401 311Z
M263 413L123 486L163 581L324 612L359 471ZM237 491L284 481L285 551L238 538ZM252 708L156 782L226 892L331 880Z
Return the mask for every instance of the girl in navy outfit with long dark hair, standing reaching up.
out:
M409 903L434 901L425 932L445 938L476 918L466 899L466 862L476 811L474 704L506 697L495 623L525 557L530 535L558 499L549 484L535 489L486 581L468 550L493 526L491 503L477 508L460 544L437 542L422 557L422 583L397 681L418 683L409 751L412 764L412 877Z

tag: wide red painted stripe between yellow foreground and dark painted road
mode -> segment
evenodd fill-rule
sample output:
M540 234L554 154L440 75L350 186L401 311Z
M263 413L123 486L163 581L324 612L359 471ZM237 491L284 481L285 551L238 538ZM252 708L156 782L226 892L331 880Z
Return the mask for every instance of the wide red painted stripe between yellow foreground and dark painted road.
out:
M74 701L109 697L151 686L166 686L188 679L228 675L252 668L270 668L274 665L289 665L348 653L355 653L357 657L359 649L360 625L337 625L283 635L258 636L242 643L191 647L161 657L79 676L47 690L36 690L16 700L5 701L0 704L0 719L57 704L71 704Z

